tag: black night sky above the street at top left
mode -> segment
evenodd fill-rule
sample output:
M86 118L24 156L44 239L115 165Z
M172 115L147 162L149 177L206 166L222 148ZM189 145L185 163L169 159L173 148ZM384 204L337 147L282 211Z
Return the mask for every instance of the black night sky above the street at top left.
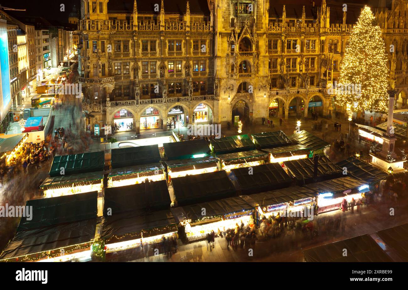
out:
M27 11L9 11L3 10L11 15L24 16L41 16L50 22L57 22L60 24L68 23L68 15L71 13L73 6L80 8L80 0L0 0L2 7L13 9L26 9ZM60 11L60 5L65 4L65 11ZM3 9L3 8L2 8ZM19 14L18 14L19 13Z

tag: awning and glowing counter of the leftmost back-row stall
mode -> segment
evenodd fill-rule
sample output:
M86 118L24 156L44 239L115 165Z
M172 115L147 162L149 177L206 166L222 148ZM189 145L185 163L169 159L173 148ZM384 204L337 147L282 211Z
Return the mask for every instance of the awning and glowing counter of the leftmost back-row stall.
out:
M87 193L102 192L103 171L48 177L40 185L44 198Z

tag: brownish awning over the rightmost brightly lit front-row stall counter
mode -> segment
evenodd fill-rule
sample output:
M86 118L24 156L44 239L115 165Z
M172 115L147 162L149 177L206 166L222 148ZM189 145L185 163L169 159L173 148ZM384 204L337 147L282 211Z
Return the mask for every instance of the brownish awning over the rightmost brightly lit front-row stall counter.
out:
M345 190L353 190L363 185L367 185L367 182L356 179L354 177L346 176L322 182L306 184L304 187L315 190L317 193L342 193Z

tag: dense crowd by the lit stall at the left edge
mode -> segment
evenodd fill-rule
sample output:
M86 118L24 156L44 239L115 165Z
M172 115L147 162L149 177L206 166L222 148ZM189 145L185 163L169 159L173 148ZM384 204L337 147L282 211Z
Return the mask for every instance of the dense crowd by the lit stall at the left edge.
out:
M13 178L20 173L32 174L55 156L55 147L47 142L24 143L21 148L6 162L2 158L0 165L0 181Z

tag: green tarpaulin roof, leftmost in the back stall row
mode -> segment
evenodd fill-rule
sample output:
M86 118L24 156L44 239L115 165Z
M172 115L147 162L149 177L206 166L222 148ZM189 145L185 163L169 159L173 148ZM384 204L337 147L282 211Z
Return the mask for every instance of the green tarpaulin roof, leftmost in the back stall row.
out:
M60 174L62 167L65 174ZM104 167L105 153L103 151L62 155L54 157L49 174L51 177L74 175L103 171Z

